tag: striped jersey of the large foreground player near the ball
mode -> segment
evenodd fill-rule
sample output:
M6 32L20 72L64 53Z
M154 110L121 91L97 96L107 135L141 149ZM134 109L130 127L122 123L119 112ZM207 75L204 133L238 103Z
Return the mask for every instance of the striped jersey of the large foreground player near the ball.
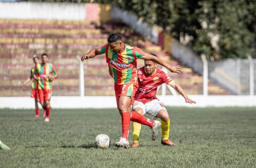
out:
M100 52L106 53L108 72L116 84L137 82L137 58L142 58L143 50L125 44L122 52L114 53L106 43L101 47Z

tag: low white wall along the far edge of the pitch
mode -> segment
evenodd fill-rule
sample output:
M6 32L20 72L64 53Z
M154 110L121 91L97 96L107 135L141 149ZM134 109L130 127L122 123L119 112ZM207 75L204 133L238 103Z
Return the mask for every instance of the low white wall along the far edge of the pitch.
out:
M157 96L165 106L172 107L256 107L256 96L189 95L196 104L187 104L182 96ZM35 108L33 98L0 97L0 108ZM52 108L116 108L115 96L53 96Z

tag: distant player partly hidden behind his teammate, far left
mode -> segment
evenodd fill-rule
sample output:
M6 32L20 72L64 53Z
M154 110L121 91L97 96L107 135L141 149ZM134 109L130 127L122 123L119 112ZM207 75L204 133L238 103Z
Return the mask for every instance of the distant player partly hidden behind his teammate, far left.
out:
M39 57L34 55L33 56L33 61L36 64L39 63ZM31 68L30 70L30 75L29 78L26 79L26 81L23 82L23 84L21 85L22 88L24 89L26 83L28 83L31 79L32 79L32 84L31 84L31 98L35 98L35 118L39 117L39 109L38 109L38 101L39 101L39 96L38 96L38 81L35 80L35 78L33 77L35 71L35 66ZM40 101L39 101L40 102ZM42 105L42 104L41 104ZM46 114L46 110L44 110L44 115Z

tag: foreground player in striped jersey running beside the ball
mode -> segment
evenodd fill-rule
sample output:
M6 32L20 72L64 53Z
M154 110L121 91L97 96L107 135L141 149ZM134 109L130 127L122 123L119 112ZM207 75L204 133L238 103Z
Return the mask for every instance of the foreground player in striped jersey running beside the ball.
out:
M155 61L172 72L180 73L180 66L172 67L162 59L154 57L137 47L131 47L122 41L119 34L113 33L108 37L108 43L101 48L90 50L87 55L82 55L81 61L93 58L96 55L106 55L109 74L115 82L116 104L122 117L122 137L115 143L116 147L129 148L128 132L130 121L148 125L152 130L152 139L157 136L159 121L147 119L137 112L131 112L131 104L134 102L134 95L138 89L137 82L137 59Z

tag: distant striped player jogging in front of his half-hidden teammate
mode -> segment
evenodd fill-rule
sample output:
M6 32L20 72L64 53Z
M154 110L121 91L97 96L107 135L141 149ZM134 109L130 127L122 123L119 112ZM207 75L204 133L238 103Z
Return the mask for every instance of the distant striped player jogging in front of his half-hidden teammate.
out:
M41 55L42 63L35 65L34 78L38 81L39 100L46 110L45 122L49 122L50 100L52 96L53 79L58 76L55 66L48 62L46 53Z

